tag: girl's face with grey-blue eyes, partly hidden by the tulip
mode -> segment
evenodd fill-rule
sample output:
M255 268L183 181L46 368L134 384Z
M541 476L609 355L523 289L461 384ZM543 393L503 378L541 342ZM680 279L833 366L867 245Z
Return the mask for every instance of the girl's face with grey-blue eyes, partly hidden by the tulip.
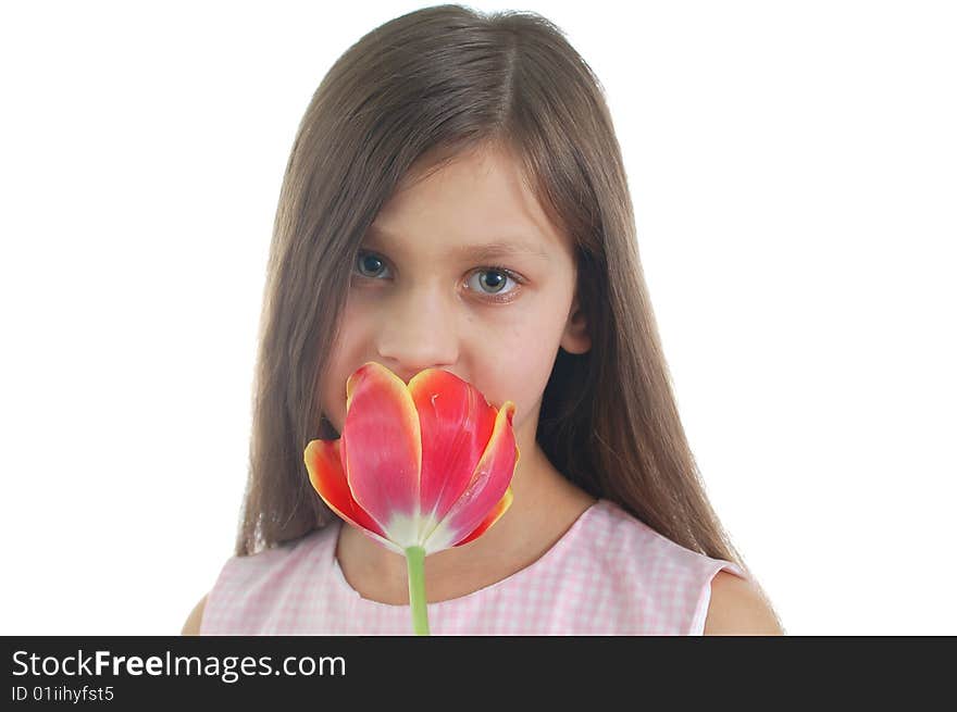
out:
M439 367L495 408L513 401L518 446L531 454L559 346L591 347L575 278L571 239L549 224L507 153L473 151L400 186L352 265L323 413L341 434L346 380L366 361L406 383Z

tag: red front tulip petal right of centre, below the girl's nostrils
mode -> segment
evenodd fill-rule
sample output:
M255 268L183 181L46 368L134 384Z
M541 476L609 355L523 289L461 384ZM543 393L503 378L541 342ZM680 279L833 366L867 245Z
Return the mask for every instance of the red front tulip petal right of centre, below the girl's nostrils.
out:
M462 496L495 427L496 409L471 384L442 369L409 382L422 432L419 499L423 540Z

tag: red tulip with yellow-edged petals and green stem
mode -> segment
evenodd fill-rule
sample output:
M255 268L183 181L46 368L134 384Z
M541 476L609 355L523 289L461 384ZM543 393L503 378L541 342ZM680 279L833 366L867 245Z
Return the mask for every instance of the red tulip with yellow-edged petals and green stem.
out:
M484 534L512 501L515 404L496 410L471 384L426 369L407 386L369 362L346 384L337 440L312 440L306 467L328 507L406 557L417 633L427 634L424 558Z

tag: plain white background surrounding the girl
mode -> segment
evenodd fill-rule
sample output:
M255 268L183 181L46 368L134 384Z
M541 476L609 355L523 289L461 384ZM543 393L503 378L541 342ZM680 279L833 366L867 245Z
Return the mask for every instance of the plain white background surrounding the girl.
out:
M296 127L424 5L333 7L2 5L0 634L178 634L232 554ZM957 634L954 4L473 7L605 85L682 417L786 630Z

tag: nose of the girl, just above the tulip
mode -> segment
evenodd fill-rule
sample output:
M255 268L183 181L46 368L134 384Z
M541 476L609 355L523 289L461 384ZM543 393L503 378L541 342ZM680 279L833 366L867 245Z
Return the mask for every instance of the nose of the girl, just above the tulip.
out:
M402 380L430 367L446 367L458 360L458 325L451 298L422 286L396 295L383 304L377 329L377 351Z

